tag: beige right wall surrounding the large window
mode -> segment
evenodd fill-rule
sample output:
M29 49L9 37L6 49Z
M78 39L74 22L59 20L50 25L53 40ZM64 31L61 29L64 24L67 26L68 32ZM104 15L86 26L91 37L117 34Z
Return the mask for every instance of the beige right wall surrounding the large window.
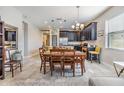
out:
M108 11L106 11L103 15L93 20L95 22L98 22L97 33L99 32L104 33L105 32L105 21L121 13L124 13L124 7L121 7L121 6L112 7ZM98 37L98 40L92 41L89 43L96 44L102 47L101 61L103 63L112 64L114 60L124 61L124 50L120 51L120 50L105 48L105 35Z

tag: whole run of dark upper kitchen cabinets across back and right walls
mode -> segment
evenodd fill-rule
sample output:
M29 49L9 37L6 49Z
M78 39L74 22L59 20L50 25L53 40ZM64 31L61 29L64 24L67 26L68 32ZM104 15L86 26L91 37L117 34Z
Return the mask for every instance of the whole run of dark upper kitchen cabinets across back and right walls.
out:
M82 31L60 31L60 37L67 37L69 42L97 40L97 22L88 24Z

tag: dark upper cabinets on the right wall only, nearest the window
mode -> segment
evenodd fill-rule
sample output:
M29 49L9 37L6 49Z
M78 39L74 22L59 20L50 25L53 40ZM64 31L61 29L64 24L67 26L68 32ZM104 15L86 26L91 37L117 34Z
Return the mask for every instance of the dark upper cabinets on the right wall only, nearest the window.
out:
M88 24L80 33L81 40L97 40L97 22Z

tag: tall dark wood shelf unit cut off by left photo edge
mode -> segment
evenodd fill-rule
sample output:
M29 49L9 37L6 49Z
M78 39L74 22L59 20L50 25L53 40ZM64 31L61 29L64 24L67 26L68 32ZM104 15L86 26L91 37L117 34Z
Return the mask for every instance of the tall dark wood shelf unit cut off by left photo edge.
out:
M0 21L0 79L4 79L4 23Z

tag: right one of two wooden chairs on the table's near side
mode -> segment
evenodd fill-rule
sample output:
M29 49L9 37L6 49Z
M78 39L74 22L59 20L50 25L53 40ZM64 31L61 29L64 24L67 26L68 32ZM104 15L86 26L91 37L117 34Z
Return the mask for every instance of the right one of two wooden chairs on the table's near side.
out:
M65 66L70 66L75 76L75 50L67 49L63 51L63 76L65 76Z

